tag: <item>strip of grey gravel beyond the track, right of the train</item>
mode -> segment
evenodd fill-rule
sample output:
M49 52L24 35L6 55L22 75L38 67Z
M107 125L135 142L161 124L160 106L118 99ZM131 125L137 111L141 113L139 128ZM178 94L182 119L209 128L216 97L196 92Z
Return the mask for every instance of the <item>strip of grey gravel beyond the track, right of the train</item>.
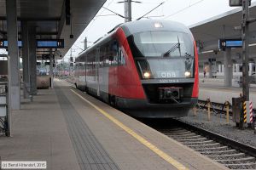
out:
M183 122L189 122L197 127L202 127L213 133L224 135L227 138L234 139L243 144L249 144L256 147L256 134L252 129L240 130L236 127L236 123L230 120L229 124L226 124L224 117L212 114L211 121L207 121L207 114L205 111L198 111L197 115L193 115L193 111L189 112L189 116L180 118Z

